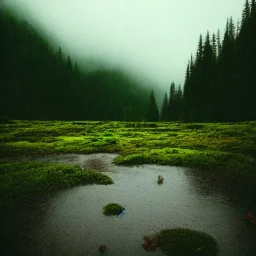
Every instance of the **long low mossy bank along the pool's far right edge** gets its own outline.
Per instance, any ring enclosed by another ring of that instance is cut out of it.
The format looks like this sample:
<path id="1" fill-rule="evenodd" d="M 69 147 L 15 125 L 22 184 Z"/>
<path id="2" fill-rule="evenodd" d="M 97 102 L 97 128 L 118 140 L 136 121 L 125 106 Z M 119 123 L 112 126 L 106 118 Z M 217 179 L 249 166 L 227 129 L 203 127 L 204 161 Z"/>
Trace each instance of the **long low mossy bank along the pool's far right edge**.
<path id="1" fill-rule="evenodd" d="M 200 168 L 205 171 L 225 171 L 238 175 L 249 174 L 254 159 L 242 154 L 213 150 L 191 150 L 181 148 L 152 149 L 126 156 L 118 156 L 114 162 L 123 165 L 161 164 Z M 256 177 L 255 177 L 256 178 Z"/>

